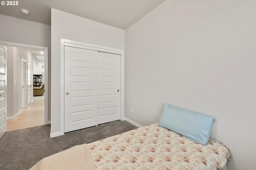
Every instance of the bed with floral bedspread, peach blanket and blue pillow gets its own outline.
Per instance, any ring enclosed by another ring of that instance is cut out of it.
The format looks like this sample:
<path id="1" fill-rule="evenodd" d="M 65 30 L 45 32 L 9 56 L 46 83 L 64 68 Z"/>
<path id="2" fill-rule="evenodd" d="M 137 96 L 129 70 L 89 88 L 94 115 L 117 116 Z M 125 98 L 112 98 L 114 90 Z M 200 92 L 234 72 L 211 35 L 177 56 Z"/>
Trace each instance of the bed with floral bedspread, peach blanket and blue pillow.
<path id="1" fill-rule="evenodd" d="M 31 170 L 226 170 L 232 155 L 209 139 L 213 122 L 212 116 L 164 104 L 159 123 L 77 145 Z"/>

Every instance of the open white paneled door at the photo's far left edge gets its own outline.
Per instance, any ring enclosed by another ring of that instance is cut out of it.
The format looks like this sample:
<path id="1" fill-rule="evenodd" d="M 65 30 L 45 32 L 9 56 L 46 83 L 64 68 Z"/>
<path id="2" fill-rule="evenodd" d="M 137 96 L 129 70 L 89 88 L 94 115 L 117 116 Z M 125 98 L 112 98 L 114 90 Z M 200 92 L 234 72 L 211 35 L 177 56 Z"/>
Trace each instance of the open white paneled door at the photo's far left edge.
<path id="1" fill-rule="evenodd" d="M 6 69 L 7 69 L 6 45 L 0 40 L 0 138 L 6 133 L 7 129 L 7 92 L 6 92 Z"/>

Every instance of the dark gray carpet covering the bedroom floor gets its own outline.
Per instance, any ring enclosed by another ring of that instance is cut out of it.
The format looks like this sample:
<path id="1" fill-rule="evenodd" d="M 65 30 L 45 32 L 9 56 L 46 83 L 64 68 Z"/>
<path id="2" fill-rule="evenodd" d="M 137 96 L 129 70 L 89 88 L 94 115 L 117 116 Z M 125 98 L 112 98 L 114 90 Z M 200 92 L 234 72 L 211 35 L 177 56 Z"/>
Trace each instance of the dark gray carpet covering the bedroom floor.
<path id="1" fill-rule="evenodd" d="M 54 138 L 50 138 L 50 125 L 8 131 L 0 139 L 0 170 L 28 170 L 46 156 L 136 128 L 126 121 L 113 121 Z"/>

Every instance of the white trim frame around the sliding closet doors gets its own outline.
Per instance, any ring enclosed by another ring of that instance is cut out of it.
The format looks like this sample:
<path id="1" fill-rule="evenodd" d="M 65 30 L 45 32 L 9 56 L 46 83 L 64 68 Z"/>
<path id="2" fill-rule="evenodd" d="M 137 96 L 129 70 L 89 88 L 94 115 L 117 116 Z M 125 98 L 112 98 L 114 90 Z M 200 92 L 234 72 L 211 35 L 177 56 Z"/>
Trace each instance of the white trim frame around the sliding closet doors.
<path id="1" fill-rule="evenodd" d="M 64 46 L 120 54 L 120 120 L 124 120 L 124 50 L 60 39 L 60 135 L 64 135 Z"/>

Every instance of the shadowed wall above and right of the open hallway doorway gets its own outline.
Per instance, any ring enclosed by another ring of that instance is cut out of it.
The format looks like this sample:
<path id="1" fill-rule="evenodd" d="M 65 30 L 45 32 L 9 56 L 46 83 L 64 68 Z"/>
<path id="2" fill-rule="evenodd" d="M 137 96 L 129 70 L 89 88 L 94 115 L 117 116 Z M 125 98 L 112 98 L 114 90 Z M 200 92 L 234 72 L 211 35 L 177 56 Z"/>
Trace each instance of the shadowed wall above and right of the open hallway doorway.
<path id="1" fill-rule="evenodd" d="M 51 69 L 51 26 L 0 14 L 0 39 L 13 43 L 48 47 L 48 83 Z M 8 56 L 8 54 L 7 54 Z M 33 62 L 32 62 L 33 63 Z M 31 63 L 31 64 L 32 64 Z M 8 74 L 8 73 L 7 73 Z M 50 121 L 50 86 L 48 88 L 48 120 Z"/>

